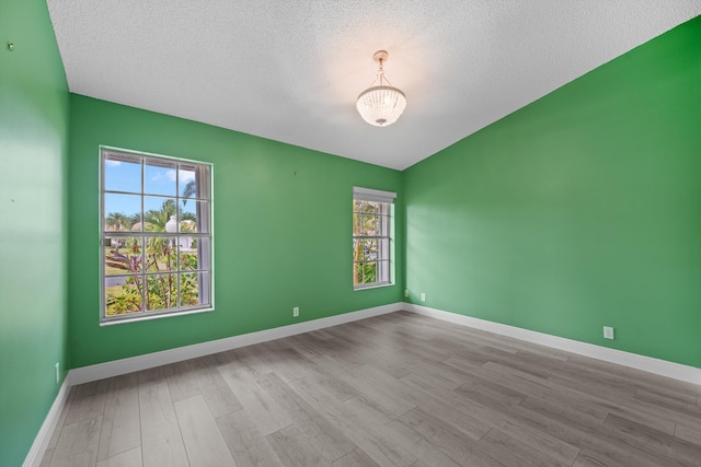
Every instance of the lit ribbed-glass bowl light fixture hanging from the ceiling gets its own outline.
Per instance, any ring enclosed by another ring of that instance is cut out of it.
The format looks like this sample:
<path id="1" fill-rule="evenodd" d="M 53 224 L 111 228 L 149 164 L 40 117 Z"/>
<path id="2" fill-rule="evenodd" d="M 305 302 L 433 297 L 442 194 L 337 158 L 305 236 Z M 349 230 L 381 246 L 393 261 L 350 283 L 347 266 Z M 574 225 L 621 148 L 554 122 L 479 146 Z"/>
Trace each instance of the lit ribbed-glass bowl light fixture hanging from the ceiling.
<path id="1" fill-rule="evenodd" d="M 370 87 L 363 91 L 358 96 L 356 107 L 365 121 L 376 127 L 387 127 L 392 125 L 406 108 L 406 96 L 397 87 L 393 87 L 384 77 L 382 63 L 387 61 L 389 54 L 386 50 L 378 50 L 372 55 L 372 60 L 380 63 L 377 72 L 378 78 L 370 83 Z M 379 79 L 378 86 L 374 86 Z M 386 85 L 384 83 L 387 82 Z"/>

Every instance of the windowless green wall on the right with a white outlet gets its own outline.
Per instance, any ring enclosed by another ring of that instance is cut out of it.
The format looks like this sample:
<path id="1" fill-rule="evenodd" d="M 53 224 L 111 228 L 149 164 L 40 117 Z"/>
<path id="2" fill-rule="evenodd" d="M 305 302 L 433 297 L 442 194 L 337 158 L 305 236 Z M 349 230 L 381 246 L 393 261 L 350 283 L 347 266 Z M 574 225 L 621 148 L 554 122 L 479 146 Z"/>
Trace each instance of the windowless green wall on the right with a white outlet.
<path id="1" fill-rule="evenodd" d="M 405 171 L 411 301 L 701 366 L 700 38 L 697 17 Z"/>

